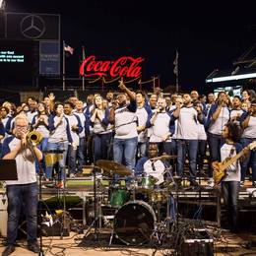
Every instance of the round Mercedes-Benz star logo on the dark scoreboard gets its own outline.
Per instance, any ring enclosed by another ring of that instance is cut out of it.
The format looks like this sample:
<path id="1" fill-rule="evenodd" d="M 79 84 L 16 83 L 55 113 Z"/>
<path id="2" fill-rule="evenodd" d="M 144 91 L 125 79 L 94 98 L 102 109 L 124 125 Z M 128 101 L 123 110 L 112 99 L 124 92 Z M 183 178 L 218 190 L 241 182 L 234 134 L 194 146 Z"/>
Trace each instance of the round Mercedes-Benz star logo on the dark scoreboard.
<path id="1" fill-rule="evenodd" d="M 37 15 L 26 16 L 21 22 L 21 32 L 27 38 L 36 39 L 45 32 L 45 23 Z"/>

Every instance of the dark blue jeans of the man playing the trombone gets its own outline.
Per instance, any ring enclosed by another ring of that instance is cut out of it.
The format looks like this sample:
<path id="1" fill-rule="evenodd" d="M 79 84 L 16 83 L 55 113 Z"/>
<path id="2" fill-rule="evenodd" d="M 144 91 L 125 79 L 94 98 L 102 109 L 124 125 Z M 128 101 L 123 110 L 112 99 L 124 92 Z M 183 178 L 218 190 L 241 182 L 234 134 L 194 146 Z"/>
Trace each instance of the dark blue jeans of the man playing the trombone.
<path id="1" fill-rule="evenodd" d="M 36 241 L 37 235 L 37 184 L 8 185 L 7 245 L 14 245 L 17 238 L 22 209 L 26 211 L 28 242 Z"/>

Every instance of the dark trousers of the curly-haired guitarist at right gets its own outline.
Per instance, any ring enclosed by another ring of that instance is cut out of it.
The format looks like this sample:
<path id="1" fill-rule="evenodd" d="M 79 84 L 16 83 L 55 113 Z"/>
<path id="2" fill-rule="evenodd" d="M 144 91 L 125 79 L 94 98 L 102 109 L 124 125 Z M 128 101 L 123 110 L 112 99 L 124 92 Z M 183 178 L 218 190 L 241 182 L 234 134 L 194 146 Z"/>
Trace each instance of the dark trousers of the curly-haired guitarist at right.
<path id="1" fill-rule="evenodd" d="M 239 181 L 223 181 L 224 204 L 227 206 L 228 222 L 231 228 L 237 228 Z"/>

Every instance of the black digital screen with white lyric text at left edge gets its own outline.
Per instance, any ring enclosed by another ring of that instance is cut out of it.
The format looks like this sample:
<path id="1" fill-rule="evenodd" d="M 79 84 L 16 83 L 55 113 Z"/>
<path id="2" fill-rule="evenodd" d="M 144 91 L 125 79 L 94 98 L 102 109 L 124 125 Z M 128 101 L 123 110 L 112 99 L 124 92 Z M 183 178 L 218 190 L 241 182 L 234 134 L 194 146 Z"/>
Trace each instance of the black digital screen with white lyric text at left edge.
<path id="1" fill-rule="evenodd" d="M 35 72 L 35 42 L 0 40 L 0 70 L 2 78 L 28 78 Z"/>

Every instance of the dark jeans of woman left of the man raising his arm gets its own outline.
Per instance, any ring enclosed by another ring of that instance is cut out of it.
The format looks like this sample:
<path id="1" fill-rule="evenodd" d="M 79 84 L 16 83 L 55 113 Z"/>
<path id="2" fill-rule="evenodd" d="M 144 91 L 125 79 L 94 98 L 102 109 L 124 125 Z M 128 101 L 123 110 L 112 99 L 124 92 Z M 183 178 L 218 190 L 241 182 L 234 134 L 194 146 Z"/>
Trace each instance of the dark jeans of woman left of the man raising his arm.
<path id="1" fill-rule="evenodd" d="M 94 134 L 94 161 L 96 160 L 110 160 L 112 133 Z"/>

